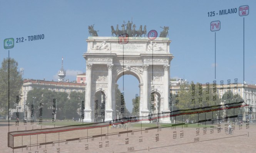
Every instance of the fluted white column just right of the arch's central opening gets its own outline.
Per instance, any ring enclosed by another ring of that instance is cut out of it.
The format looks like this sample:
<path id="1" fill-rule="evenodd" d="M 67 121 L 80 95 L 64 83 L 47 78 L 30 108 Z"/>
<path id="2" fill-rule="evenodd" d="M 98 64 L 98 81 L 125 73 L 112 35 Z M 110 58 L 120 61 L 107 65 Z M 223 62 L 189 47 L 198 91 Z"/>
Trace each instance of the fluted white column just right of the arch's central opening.
<path id="1" fill-rule="evenodd" d="M 149 109 L 147 107 L 147 69 L 148 69 L 149 65 L 143 64 L 142 68 L 143 68 L 143 104 L 142 104 L 142 109 L 141 109 L 141 114 L 142 114 L 142 119 L 149 119 L 148 115 L 149 115 Z M 143 117 L 143 116 L 147 116 L 147 117 Z M 149 122 L 149 121 L 145 121 L 145 122 Z"/>

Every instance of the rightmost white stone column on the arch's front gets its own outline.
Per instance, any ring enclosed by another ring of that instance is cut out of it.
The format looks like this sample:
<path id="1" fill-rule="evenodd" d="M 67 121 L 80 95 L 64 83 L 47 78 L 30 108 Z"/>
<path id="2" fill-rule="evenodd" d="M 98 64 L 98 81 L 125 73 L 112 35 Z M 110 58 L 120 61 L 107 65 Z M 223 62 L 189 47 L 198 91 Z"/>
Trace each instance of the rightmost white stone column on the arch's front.
<path id="1" fill-rule="evenodd" d="M 164 65 L 164 103 L 162 107 L 162 116 L 169 116 L 170 115 L 170 109 L 168 106 L 168 100 L 169 100 L 169 67 L 170 65 Z M 162 122 L 171 122 L 170 117 L 162 118 Z"/>

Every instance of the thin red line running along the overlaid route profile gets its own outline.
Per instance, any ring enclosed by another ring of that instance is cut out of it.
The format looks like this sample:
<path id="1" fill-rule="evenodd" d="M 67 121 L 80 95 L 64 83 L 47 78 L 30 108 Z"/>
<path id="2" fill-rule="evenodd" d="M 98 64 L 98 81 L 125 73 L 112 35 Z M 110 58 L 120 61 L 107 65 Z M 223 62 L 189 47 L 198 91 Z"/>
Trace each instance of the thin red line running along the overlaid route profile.
<path id="1" fill-rule="evenodd" d="M 139 121 L 150 121 L 150 120 L 160 119 L 160 118 L 165 118 L 165 117 L 180 116 L 180 115 L 184 115 L 184 114 L 197 114 L 197 113 L 202 113 L 202 112 L 212 112 L 212 111 L 219 111 L 219 110 L 223 110 L 223 109 L 231 109 L 231 108 L 238 108 L 238 107 L 245 107 L 245 106 L 249 106 L 249 105 L 246 104 L 246 105 L 241 105 L 241 106 L 232 106 L 232 107 L 226 107 L 226 108 L 210 109 L 210 110 L 206 110 L 206 111 L 184 112 L 184 113 L 175 114 L 175 115 L 154 117 L 152 119 L 129 120 L 129 121 L 125 121 L 125 122 L 122 122 L 122 123 L 139 122 Z M 116 124 L 121 124 L 121 123 L 116 123 Z M 72 131 L 72 130 L 93 129 L 93 128 L 97 128 L 97 127 L 107 127 L 107 126 L 109 126 L 109 124 L 107 124 L 107 125 L 99 125 L 99 126 L 94 126 L 94 127 L 80 127 L 80 128 L 66 129 L 66 130 L 57 130 L 57 131 L 15 134 L 15 135 L 13 135 L 13 137 L 22 136 L 22 135 L 36 135 L 36 134 L 66 132 L 66 131 Z"/>

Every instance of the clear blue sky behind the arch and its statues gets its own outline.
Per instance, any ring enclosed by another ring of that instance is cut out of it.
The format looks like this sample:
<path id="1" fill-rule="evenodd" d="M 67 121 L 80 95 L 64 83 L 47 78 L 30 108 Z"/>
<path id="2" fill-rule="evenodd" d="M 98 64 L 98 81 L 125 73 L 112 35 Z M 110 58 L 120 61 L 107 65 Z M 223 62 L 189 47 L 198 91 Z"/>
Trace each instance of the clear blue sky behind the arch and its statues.
<path id="1" fill-rule="evenodd" d="M 99 36 L 111 36 L 110 26 L 132 20 L 136 25 L 147 25 L 147 31 L 154 29 L 159 34 L 160 26 L 169 26 L 170 52 L 174 55 L 171 78 L 200 83 L 238 78 L 240 83 L 245 80 L 248 84 L 256 84 L 256 1 L 129 0 L 121 3 L 0 0 L 0 62 L 8 57 L 8 49 L 3 48 L 4 39 L 14 38 L 16 42 L 17 38 L 25 40 L 28 36 L 44 34 L 41 40 L 15 43 L 9 49 L 10 57 L 24 68 L 23 78 L 55 81 L 64 57 L 65 79 L 72 81 L 77 74 L 85 72 L 82 55 L 87 52 L 88 26 L 95 24 Z M 219 15 L 219 10 L 238 10 L 243 5 L 249 5 L 247 16 L 239 16 L 238 11 Z M 208 16 L 212 11 L 218 15 Z M 221 29 L 210 31 L 211 21 L 217 20 L 221 22 Z M 122 88 L 122 77 L 117 83 Z M 128 102 L 139 93 L 139 81 L 125 75 L 124 85 L 129 91 L 125 101 L 131 111 L 132 105 Z"/>

